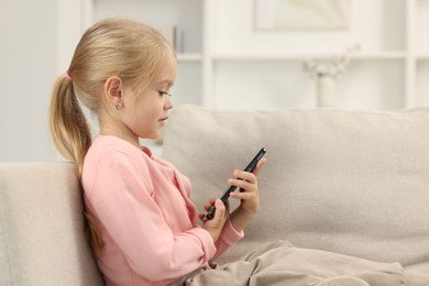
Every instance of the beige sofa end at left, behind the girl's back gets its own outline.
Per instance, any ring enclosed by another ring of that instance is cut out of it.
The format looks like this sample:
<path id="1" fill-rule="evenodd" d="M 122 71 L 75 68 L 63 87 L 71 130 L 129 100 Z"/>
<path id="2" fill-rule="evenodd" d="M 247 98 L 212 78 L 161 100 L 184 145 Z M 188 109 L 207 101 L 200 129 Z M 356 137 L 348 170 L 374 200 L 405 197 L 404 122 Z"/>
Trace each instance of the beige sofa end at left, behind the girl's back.
<path id="1" fill-rule="evenodd" d="M 73 164 L 0 164 L 0 285 L 103 285 Z"/>

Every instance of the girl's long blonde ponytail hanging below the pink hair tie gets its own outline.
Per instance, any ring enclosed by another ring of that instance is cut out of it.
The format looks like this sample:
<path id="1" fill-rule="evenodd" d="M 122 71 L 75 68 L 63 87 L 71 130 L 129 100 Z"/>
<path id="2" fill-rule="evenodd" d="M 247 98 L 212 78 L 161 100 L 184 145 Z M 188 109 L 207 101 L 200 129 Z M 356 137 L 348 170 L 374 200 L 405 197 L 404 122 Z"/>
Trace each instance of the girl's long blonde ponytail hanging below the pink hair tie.
<path id="1" fill-rule="evenodd" d="M 50 128 L 59 153 L 82 173 L 84 158 L 91 145 L 88 121 L 75 96 L 73 81 L 59 77 L 54 85 L 50 106 Z"/>

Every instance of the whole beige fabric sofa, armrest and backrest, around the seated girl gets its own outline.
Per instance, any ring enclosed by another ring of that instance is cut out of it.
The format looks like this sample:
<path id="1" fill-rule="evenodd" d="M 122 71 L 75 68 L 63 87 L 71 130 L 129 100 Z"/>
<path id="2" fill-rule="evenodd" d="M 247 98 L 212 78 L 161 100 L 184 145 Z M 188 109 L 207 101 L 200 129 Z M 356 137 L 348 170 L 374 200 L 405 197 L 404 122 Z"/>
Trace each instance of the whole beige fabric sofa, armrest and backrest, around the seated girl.
<path id="1" fill-rule="evenodd" d="M 222 261 L 274 240 L 429 273 L 429 109 L 211 111 L 176 107 L 163 156 L 201 207 L 268 150 L 261 210 Z M 102 285 L 76 168 L 0 164 L 0 285 Z"/>

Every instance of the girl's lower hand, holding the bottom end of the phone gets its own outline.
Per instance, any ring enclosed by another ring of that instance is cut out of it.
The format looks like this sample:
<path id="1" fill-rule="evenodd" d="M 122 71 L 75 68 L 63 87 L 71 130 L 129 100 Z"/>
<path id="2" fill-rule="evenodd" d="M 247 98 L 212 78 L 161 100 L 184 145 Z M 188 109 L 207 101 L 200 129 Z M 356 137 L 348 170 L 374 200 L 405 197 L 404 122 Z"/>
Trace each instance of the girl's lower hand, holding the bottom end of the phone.
<path id="1" fill-rule="evenodd" d="M 216 207 L 215 217 L 211 220 L 207 220 L 205 213 L 200 213 L 199 218 L 202 221 L 202 228 L 207 230 L 211 238 L 213 239 L 213 242 L 217 242 L 220 233 L 222 232 L 223 224 L 229 218 L 229 205 L 223 205 L 223 202 L 220 199 L 210 199 L 209 205 L 205 206 L 206 211 L 209 211 L 211 206 Z"/>

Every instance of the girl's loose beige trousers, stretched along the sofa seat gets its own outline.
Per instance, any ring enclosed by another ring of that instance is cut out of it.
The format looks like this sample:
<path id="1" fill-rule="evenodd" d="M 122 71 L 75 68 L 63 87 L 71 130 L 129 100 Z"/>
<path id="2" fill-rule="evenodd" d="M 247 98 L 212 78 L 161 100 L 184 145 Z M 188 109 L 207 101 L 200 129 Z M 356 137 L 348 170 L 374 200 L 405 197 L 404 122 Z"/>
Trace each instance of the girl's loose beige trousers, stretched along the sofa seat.
<path id="1" fill-rule="evenodd" d="M 429 274 L 405 275 L 399 263 L 380 263 L 332 252 L 299 249 L 288 241 L 273 242 L 242 260 L 218 265 L 215 270 L 198 270 L 173 285 L 316 286 L 344 276 L 359 278 L 371 286 L 429 285 Z"/>

